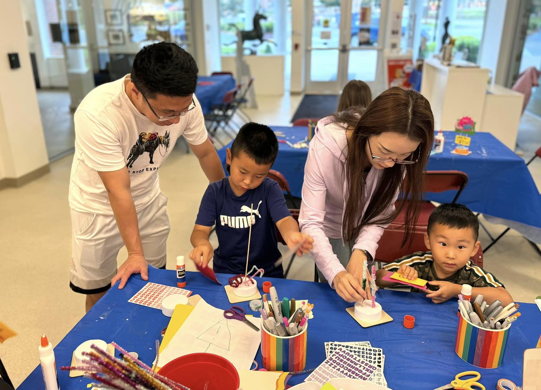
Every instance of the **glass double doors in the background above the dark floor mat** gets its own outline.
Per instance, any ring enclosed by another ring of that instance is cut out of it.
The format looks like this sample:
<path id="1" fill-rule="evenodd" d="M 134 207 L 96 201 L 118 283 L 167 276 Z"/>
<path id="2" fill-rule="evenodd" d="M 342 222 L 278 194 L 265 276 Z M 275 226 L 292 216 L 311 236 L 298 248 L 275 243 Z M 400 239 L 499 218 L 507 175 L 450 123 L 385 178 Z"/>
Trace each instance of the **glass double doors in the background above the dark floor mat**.
<path id="1" fill-rule="evenodd" d="M 383 79 L 388 0 L 311 0 L 307 7 L 306 91 L 339 93 L 358 79 Z"/>

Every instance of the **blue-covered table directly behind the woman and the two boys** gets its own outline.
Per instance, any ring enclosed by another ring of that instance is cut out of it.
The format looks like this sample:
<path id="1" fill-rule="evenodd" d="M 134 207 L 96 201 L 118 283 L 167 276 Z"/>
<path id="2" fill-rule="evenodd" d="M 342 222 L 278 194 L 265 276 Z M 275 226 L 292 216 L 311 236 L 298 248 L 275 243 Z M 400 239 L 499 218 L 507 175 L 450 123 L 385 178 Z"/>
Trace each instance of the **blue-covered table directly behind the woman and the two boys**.
<path id="1" fill-rule="evenodd" d="M 295 143 L 307 135 L 307 127 L 271 126 Z M 428 159 L 427 171 L 457 170 L 468 174 L 469 181 L 458 202 L 482 213 L 492 223 L 514 228 L 530 240 L 541 244 L 541 195 L 524 160 L 490 133 L 478 132 L 472 137 L 469 156 L 452 154 L 457 133 L 444 131 L 444 152 Z M 295 138 L 293 138 L 295 137 Z M 231 144 L 226 147 L 230 147 Z M 225 165 L 225 148 L 218 155 Z M 308 149 L 293 149 L 279 144 L 273 169 L 283 174 L 294 197 L 301 197 L 304 167 Z M 456 191 L 427 193 L 427 199 L 439 203 L 453 200 Z M 203 194 L 201 194 L 202 196 Z"/>

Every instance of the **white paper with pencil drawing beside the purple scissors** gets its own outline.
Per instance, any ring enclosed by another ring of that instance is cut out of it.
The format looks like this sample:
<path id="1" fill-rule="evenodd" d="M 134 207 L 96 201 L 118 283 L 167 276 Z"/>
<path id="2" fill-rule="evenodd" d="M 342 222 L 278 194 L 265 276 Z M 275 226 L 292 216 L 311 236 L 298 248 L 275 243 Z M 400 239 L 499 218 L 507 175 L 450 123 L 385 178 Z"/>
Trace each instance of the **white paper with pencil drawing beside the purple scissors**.
<path id="1" fill-rule="evenodd" d="M 259 318 L 246 319 L 259 327 Z M 208 352 L 226 358 L 236 369 L 250 369 L 260 342 L 260 332 L 242 321 L 226 319 L 223 310 L 201 300 L 163 349 L 160 366 L 189 353 Z"/>

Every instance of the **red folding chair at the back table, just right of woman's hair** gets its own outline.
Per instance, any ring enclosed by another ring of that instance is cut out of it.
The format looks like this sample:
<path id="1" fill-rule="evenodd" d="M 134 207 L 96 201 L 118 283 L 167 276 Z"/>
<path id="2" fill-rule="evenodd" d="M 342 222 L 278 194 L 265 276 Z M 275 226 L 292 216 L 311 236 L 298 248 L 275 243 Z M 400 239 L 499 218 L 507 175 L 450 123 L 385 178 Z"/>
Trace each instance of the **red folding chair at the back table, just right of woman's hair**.
<path id="1" fill-rule="evenodd" d="M 407 177 L 404 178 L 404 185 L 407 183 Z M 454 199 L 451 203 L 456 203 L 458 197 L 464 190 L 464 187 L 468 183 L 468 176 L 466 173 L 461 171 L 426 171 L 424 174 L 424 192 L 445 192 L 456 190 L 457 194 L 454 196 Z M 436 209 L 430 201 L 424 201 L 421 203 L 421 212 L 419 218 L 415 223 L 415 226 L 425 226 L 428 225 L 428 217 L 432 211 Z M 398 214 L 397 219 L 393 223 L 398 223 L 400 225 L 404 224 L 405 216 L 407 210 L 407 201 L 404 204 L 404 207 L 400 214 Z"/>

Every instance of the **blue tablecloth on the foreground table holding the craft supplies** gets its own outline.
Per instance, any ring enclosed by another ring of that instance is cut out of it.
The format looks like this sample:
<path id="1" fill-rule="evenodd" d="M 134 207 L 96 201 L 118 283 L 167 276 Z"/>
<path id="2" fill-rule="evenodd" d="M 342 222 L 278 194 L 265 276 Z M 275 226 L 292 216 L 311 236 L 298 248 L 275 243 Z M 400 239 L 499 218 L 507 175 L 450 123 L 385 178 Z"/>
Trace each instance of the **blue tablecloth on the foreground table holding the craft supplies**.
<path id="1" fill-rule="evenodd" d="M 230 275 L 217 274 L 227 284 Z M 308 299 L 314 306 L 314 318 L 309 321 L 306 368 L 315 368 L 325 360 L 325 341 L 364 341 L 383 348 L 384 373 L 388 385 L 394 390 L 436 388 L 449 383 L 459 372 L 470 366 L 454 352 L 458 325 L 457 303 L 450 300 L 433 304 L 424 294 L 380 291 L 378 302 L 394 318 L 393 322 L 370 328 L 361 328 L 345 309 L 352 306 L 343 301 L 326 283 L 262 278 L 271 280 L 279 297 Z M 176 285 L 174 271 L 150 268 L 149 281 Z M 227 309 L 231 306 L 223 286 L 206 279 L 198 272 L 187 272 L 187 288 L 200 294 L 209 304 Z M 169 318 L 160 310 L 128 303 L 147 282 L 140 275 L 130 278 L 123 290 L 116 285 L 78 322 L 55 347 L 56 366 L 70 365 L 72 352 L 88 339 L 103 339 L 139 354 L 147 364 L 154 359 L 155 340 Z M 249 312 L 248 302 L 240 304 Z M 487 389 L 496 388 L 500 378 L 522 384 L 523 352 L 535 348 L 541 334 L 541 313 L 536 305 L 521 304 L 522 316 L 512 325 L 503 364 L 494 369 L 478 369 L 480 382 Z M 415 327 L 406 329 L 402 323 L 405 314 L 415 317 Z M 47 332 L 47 330 L 44 330 Z M 255 358 L 261 366 L 261 352 Z M 413 364 L 412 364 L 413 362 Z M 477 368 L 476 368 L 477 369 Z M 293 376 L 288 384 L 299 384 L 305 375 Z M 91 381 L 83 377 L 69 378 L 68 372 L 58 371 L 63 390 L 86 389 Z M 43 389 L 41 368 L 38 366 L 19 389 Z"/>

